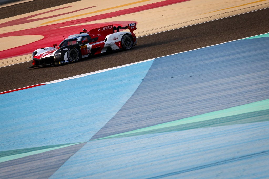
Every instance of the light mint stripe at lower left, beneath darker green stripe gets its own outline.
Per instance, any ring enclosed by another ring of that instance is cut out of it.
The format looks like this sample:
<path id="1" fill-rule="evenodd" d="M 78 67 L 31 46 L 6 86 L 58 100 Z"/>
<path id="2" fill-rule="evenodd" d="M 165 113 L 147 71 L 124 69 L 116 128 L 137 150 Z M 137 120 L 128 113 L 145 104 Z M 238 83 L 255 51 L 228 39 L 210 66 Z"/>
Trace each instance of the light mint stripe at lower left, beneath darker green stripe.
<path id="1" fill-rule="evenodd" d="M 82 143 L 82 142 L 80 142 L 80 143 Z M 36 151 L 31 151 L 31 152 L 26 152 L 26 153 L 20 153 L 20 154 L 15 154 L 15 155 L 4 156 L 4 157 L 0 158 L 0 163 L 6 162 L 6 161 L 9 161 L 9 160 L 14 160 L 14 159 L 26 157 L 26 156 L 30 156 L 30 155 L 40 154 L 40 153 L 43 153 L 43 152 L 52 151 L 52 150 L 55 150 L 55 149 L 64 148 L 64 147 L 68 147 L 68 146 L 76 145 L 76 144 L 80 144 L 80 143 L 61 145 L 61 146 L 58 146 L 58 147 L 52 147 L 52 148 L 46 148 L 46 149 L 41 149 L 41 150 L 36 150 Z"/>

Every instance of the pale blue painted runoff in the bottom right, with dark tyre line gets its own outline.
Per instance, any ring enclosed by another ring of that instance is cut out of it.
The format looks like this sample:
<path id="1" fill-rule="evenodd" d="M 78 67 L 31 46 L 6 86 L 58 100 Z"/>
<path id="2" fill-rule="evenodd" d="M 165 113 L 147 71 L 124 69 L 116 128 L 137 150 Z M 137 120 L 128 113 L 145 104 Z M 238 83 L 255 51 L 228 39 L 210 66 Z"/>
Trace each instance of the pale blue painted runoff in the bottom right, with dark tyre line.
<path id="1" fill-rule="evenodd" d="M 269 122 L 89 141 L 54 178 L 268 178 Z"/>

